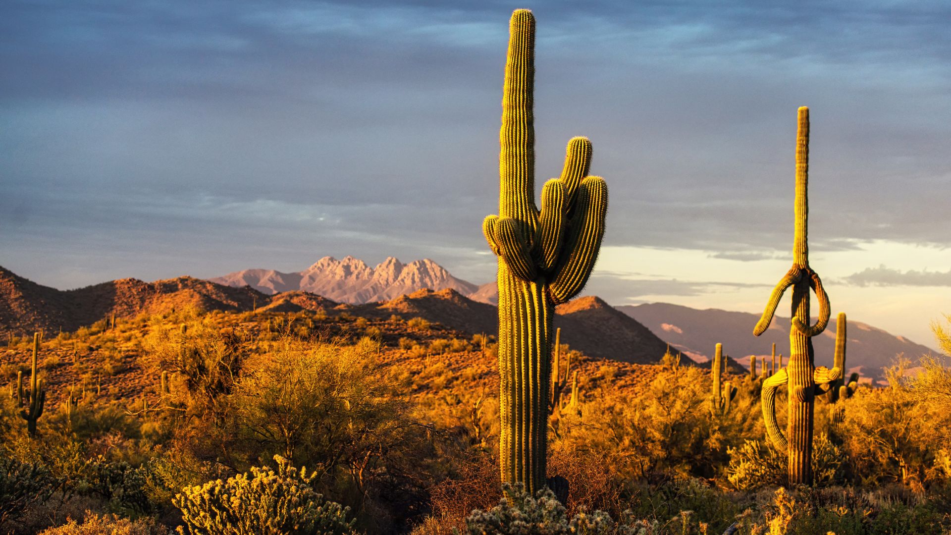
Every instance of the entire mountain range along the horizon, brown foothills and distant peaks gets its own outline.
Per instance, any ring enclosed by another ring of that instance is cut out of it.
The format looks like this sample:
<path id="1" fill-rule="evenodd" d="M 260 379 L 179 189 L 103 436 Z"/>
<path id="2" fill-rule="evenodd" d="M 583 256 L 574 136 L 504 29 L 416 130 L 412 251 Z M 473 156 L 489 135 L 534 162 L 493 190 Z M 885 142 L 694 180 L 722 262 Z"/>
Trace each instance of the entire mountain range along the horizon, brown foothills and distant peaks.
<path id="1" fill-rule="evenodd" d="M 179 277 L 146 283 L 120 279 L 59 290 L 37 285 L 0 268 L 0 335 L 41 328 L 75 330 L 106 318 L 161 313 L 176 307 L 205 310 L 296 311 L 324 309 L 378 317 L 398 314 L 469 333 L 495 333 L 495 283 L 475 285 L 454 277 L 432 260 L 402 264 L 388 258 L 376 268 L 347 256 L 321 258 L 303 271 L 245 269 L 210 280 Z M 752 336 L 756 314 L 715 308 L 699 310 L 665 303 L 611 307 L 583 297 L 557 308 L 555 326 L 563 342 L 592 357 L 646 364 L 667 348 L 705 362 L 716 343 L 748 366 L 749 355 L 765 356 L 776 343 L 788 358 L 788 318 L 777 317 L 763 336 Z M 848 324 L 847 365 L 881 377 L 882 368 L 903 353 L 916 359 L 930 349 L 878 327 Z M 817 365 L 830 365 L 835 322 L 814 338 Z"/>

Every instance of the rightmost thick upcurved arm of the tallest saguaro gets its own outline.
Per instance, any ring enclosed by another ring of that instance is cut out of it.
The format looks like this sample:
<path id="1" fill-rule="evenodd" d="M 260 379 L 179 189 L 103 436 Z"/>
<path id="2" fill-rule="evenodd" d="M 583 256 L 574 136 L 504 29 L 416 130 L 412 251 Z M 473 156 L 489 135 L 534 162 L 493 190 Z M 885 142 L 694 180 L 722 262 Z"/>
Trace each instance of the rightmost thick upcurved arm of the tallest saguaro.
<path id="1" fill-rule="evenodd" d="M 591 276 L 608 215 L 608 185 L 604 179 L 589 176 L 581 181 L 576 208 L 573 222 L 577 224 L 569 230 L 563 260 L 550 286 L 555 305 L 577 295 Z"/>

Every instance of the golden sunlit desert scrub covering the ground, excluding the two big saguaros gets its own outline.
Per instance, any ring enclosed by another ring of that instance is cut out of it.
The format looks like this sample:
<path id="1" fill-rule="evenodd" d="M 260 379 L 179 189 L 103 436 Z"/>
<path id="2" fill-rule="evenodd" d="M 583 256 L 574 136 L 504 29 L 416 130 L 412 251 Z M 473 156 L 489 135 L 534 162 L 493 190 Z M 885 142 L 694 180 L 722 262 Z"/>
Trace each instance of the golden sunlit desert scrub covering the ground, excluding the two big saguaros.
<path id="1" fill-rule="evenodd" d="M 438 326 L 366 321 L 382 341 L 355 330 L 356 317 L 196 310 L 37 340 L 46 406 L 33 436 L 23 416 L 33 340 L 14 341 L 0 530 L 425 534 L 531 519 L 534 533 L 951 528 L 943 356 L 897 360 L 885 387 L 817 397 L 807 487 L 786 485 L 786 451 L 765 440 L 762 374 L 672 353 L 628 365 L 562 345 L 544 407 L 549 473 L 570 489 L 561 502 L 501 490 L 495 342 L 483 351 Z M 946 327 L 936 332 L 946 339 Z M 427 355 L 400 347 L 407 338 L 467 345 Z M 776 391 L 778 405 L 786 395 Z"/>

